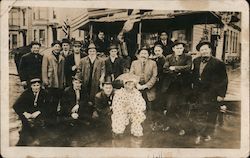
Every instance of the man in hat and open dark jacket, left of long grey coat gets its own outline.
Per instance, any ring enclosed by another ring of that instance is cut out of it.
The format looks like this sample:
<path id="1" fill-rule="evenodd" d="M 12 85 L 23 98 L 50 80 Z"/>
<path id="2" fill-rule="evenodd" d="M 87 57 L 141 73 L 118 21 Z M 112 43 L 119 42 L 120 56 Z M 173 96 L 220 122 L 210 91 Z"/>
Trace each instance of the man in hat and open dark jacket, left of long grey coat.
<path id="1" fill-rule="evenodd" d="M 66 87 L 72 84 L 72 76 L 75 76 L 76 72 L 79 71 L 80 60 L 87 56 L 81 53 L 81 42 L 74 41 L 73 43 L 73 53 L 65 58 L 64 73 L 66 78 Z"/>

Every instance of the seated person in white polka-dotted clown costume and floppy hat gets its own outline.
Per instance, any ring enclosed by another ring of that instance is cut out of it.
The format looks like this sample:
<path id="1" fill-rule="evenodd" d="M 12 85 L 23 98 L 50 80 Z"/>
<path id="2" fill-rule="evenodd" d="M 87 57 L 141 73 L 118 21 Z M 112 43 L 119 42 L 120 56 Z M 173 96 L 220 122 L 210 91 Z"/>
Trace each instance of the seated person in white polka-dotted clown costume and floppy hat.
<path id="1" fill-rule="evenodd" d="M 137 76 L 127 73 L 123 76 L 124 88 L 117 90 L 112 102 L 112 131 L 121 136 L 131 121 L 131 134 L 143 136 L 142 122 L 146 119 L 146 102 L 140 91 L 135 88 L 139 82 Z"/>

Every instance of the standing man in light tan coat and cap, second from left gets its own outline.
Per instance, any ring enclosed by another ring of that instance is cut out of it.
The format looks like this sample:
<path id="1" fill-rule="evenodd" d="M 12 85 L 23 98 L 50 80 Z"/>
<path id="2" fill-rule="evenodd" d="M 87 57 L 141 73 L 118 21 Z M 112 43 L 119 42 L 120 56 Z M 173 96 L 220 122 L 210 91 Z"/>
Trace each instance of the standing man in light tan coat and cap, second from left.
<path id="1" fill-rule="evenodd" d="M 44 54 L 42 62 L 42 79 L 45 88 L 52 96 L 51 117 L 57 113 L 58 103 L 65 86 L 64 57 L 61 52 L 61 42 L 54 41 L 51 44 L 53 50 Z"/>

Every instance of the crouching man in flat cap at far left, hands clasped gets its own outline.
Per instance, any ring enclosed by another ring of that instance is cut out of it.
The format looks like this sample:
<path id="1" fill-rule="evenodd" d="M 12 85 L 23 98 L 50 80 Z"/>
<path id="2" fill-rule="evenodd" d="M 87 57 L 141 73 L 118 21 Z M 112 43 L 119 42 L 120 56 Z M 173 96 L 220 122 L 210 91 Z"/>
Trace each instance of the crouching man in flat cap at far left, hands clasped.
<path id="1" fill-rule="evenodd" d="M 22 121 L 22 130 L 17 145 L 39 145 L 39 133 L 44 129 L 47 91 L 41 88 L 41 80 L 33 78 L 26 89 L 13 105 L 13 109 Z"/>

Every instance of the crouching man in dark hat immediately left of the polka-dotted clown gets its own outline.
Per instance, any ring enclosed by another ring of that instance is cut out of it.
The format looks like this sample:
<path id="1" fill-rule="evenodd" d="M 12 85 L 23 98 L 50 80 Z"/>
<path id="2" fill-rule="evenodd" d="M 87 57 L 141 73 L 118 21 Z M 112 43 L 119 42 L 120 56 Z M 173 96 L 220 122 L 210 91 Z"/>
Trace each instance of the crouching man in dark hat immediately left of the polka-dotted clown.
<path id="1" fill-rule="evenodd" d="M 102 83 L 102 91 L 95 96 L 95 112 L 93 117 L 98 118 L 102 129 L 111 129 L 111 105 L 114 96 L 113 85 L 111 78 Z"/>

